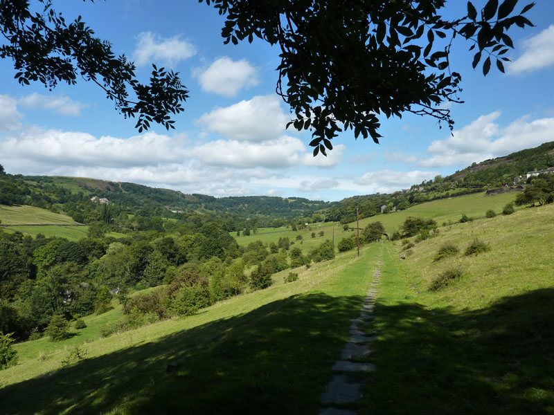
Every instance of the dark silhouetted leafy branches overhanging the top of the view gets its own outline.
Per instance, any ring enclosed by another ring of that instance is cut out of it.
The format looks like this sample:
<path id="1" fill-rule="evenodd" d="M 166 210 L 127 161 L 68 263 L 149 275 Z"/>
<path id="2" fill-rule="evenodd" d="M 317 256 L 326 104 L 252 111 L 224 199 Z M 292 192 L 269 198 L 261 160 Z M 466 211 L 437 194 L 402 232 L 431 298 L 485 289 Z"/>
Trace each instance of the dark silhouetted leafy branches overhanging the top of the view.
<path id="1" fill-rule="evenodd" d="M 21 84 L 75 84 L 77 75 L 96 82 L 124 116 L 138 116 L 139 131 L 150 122 L 173 127 L 170 113 L 183 110 L 188 91 L 177 73 L 154 66 L 150 84 L 134 77 L 134 65 L 115 57 L 108 42 L 93 37 L 79 17 L 71 24 L 53 10 L 31 13 L 26 0 L 0 0 L 0 57 L 15 62 Z M 224 43 L 254 37 L 280 47 L 277 93 L 296 117 L 289 124 L 310 129 L 314 156 L 326 155 L 343 129 L 355 138 L 379 140 L 379 116 L 410 112 L 437 118 L 452 129 L 444 102 L 461 102 L 461 75 L 449 55 L 455 37 L 475 50 L 473 67 L 487 75 L 492 63 L 504 71 L 513 25 L 533 26 L 515 14 L 517 0 L 488 0 L 481 12 L 467 2 L 457 19 L 439 15 L 445 0 L 199 0 L 226 16 Z M 129 99 L 129 93 L 136 99 Z"/>

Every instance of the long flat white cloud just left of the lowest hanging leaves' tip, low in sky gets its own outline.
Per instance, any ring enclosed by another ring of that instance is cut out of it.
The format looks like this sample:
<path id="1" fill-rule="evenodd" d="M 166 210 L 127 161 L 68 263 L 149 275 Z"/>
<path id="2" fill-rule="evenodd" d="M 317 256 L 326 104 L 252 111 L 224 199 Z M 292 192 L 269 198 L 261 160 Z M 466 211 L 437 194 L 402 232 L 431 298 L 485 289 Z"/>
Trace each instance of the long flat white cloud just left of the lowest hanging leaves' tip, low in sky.
<path id="1" fill-rule="evenodd" d="M 282 136 L 267 142 L 240 142 L 216 140 L 193 149 L 192 154 L 210 165 L 251 167 L 288 167 L 298 160 L 298 152 L 305 149 L 301 140 Z"/>

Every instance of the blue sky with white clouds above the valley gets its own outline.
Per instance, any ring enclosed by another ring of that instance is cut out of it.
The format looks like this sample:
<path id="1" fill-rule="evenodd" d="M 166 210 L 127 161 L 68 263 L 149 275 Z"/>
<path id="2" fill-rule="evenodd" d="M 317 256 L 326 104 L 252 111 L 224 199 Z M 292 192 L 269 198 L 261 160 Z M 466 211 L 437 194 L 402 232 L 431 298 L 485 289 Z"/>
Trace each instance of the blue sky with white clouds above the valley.
<path id="1" fill-rule="evenodd" d="M 481 8 L 485 1 L 473 2 Z M 521 10 L 526 2 L 518 4 Z M 470 44 L 451 58 L 464 104 L 454 104 L 454 136 L 436 120 L 406 114 L 382 119 L 380 145 L 334 139 L 328 158 L 312 157 L 310 133 L 285 130 L 289 109 L 274 93 L 278 50 L 264 42 L 224 45 L 224 19 L 205 3 L 128 0 L 55 1 L 66 19 L 82 15 L 146 80 L 152 62 L 173 68 L 190 90 L 176 130 L 139 134 L 97 86 L 80 80 L 49 92 L 22 87 L 0 61 L 0 164 L 12 174 L 87 176 L 213 196 L 267 194 L 340 200 L 393 192 L 454 173 L 473 162 L 554 140 L 554 1 L 538 0 L 513 27 L 506 74 L 483 77 Z M 465 1 L 447 12 L 461 16 Z"/>

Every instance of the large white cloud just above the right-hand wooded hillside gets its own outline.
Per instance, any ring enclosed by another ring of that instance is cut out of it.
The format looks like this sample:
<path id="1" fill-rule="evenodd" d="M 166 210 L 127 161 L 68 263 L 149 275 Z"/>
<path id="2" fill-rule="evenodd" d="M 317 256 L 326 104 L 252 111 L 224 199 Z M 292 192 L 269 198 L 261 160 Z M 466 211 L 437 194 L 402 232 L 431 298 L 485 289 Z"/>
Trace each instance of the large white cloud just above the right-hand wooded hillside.
<path id="1" fill-rule="evenodd" d="M 494 111 L 477 118 L 471 124 L 453 132 L 445 140 L 431 143 L 427 153 L 431 157 L 420 161 L 424 167 L 443 167 L 456 164 L 468 165 L 488 158 L 536 147 L 552 140 L 554 118 L 528 120 L 522 117 L 501 128 L 494 122 L 501 115 Z"/>

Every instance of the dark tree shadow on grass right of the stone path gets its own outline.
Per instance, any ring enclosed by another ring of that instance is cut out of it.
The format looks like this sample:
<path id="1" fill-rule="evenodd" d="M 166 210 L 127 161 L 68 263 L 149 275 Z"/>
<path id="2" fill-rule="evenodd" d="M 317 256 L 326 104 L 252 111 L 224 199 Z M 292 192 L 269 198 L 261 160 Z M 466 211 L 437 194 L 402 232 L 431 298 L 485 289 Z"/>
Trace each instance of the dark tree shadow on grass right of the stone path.
<path id="1" fill-rule="evenodd" d="M 554 414 L 554 289 L 479 311 L 380 305 L 364 414 Z"/>

